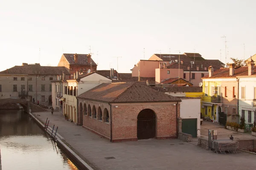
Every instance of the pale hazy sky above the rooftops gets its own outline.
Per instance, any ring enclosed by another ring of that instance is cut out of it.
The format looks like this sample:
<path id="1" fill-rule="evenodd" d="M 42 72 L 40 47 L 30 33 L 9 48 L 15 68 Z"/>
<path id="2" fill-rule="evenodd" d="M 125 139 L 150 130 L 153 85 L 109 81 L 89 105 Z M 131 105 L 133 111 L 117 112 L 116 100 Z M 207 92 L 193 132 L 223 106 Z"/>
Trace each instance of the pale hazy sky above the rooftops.
<path id="1" fill-rule="evenodd" d="M 157 53 L 247 59 L 256 54 L 255 6 L 255 0 L 0 0 L 0 71 L 23 62 L 57 66 L 63 53 L 92 53 L 98 70 L 117 69 L 119 57 L 119 73 Z"/>

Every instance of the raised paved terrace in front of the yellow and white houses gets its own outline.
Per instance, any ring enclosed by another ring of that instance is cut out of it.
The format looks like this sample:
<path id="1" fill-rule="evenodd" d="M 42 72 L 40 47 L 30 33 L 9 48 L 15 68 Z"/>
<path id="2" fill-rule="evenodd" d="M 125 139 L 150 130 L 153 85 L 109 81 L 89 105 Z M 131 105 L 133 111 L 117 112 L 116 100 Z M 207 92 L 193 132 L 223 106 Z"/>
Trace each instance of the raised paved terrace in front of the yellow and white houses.
<path id="1" fill-rule="evenodd" d="M 251 134 L 228 130 L 218 123 L 207 121 L 204 121 L 201 125 L 201 136 L 208 136 L 208 129 L 217 130 L 218 139 L 229 139 L 230 135 L 234 137 L 234 140 L 256 139 L 256 137 L 252 136 Z"/>

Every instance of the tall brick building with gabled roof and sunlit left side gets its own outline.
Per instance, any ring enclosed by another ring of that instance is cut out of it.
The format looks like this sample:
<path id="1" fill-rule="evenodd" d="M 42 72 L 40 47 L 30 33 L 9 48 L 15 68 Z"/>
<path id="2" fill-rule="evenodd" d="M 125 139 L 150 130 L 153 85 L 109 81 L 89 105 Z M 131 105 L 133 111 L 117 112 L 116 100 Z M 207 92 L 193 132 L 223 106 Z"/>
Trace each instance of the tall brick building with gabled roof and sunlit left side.
<path id="1" fill-rule="evenodd" d="M 62 54 L 58 66 L 64 66 L 70 74 L 87 73 L 97 70 L 97 64 L 93 61 L 90 54 Z"/>

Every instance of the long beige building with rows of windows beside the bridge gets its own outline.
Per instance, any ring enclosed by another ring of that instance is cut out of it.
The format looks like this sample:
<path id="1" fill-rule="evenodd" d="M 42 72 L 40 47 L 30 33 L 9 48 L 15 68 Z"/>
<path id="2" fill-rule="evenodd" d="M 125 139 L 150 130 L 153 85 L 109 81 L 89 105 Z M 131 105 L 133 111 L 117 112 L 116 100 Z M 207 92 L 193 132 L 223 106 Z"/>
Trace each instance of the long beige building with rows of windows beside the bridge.
<path id="1" fill-rule="evenodd" d="M 14 66 L 0 72 L 0 99 L 29 99 L 41 105 L 52 105 L 52 80 L 69 74 L 64 67 L 41 66 L 38 63 Z"/>

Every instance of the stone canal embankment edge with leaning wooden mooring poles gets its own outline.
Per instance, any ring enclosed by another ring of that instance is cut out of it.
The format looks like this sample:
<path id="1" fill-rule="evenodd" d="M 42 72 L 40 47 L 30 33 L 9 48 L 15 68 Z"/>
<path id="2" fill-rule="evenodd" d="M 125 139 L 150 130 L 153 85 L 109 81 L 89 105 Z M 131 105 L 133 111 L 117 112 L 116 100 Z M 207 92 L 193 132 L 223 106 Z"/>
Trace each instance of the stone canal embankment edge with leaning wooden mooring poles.
<path id="1" fill-rule="evenodd" d="M 40 113 L 39 113 L 40 114 Z M 38 115 L 36 113 L 29 113 L 29 116 L 35 120 L 35 122 L 41 127 L 41 129 L 45 130 L 45 124 L 41 119 L 38 119 Z M 48 123 L 48 122 L 47 122 Z M 64 152 L 74 161 L 76 164 L 79 165 L 80 169 L 82 170 L 93 170 L 89 164 L 87 164 L 80 156 L 76 154 L 76 151 L 73 151 L 69 146 L 67 146 L 67 142 L 65 142 L 64 138 L 56 132 L 56 128 L 58 125 L 55 125 L 55 129 L 52 129 L 51 126 L 47 127 L 47 134 L 52 137 L 52 139 L 58 144 Z M 55 138 L 54 138 L 55 137 Z"/>

